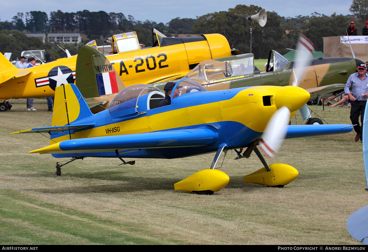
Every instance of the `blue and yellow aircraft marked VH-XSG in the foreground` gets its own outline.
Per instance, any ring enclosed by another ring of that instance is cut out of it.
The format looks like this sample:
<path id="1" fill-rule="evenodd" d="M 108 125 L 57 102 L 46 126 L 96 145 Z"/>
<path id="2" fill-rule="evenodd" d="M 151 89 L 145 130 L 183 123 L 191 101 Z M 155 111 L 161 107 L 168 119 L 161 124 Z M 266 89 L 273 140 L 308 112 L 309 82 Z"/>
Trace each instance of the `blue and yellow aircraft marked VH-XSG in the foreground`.
<path id="1" fill-rule="evenodd" d="M 286 164 L 268 165 L 261 151 L 272 157 L 283 137 L 322 136 L 353 129 L 350 125 L 285 127 L 309 99 L 309 93 L 300 87 L 207 91 L 185 78 L 175 84 L 176 89 L 181 95 L 174 98 L 176 92 L 172 92 L 171 105 L 158 107 L 165 94 L 157 87 L 128 86 L 116 95 L 109 109 L 92 114 L 77 86 L 66 84 L 56 88 L 51 127 L 14 133 L 49 133 L 50 145 L 29 153 L 71 158 L 66 163 L 103 157 L 134 164 L 123 158 L 172 159 L 215 153 L 209 169 L 174 185 L 175 190 L 212 194 L 229 182 L 227 174 L 215 169 L 222 152 L 235 150 L 236 159 L 240 159 L 254 151 L 264 167 L 244 176 L 244 182 L 283 187 L 296 179 L 298 171 Z M 57 175 L 66 163 L 57 163 Z"/>

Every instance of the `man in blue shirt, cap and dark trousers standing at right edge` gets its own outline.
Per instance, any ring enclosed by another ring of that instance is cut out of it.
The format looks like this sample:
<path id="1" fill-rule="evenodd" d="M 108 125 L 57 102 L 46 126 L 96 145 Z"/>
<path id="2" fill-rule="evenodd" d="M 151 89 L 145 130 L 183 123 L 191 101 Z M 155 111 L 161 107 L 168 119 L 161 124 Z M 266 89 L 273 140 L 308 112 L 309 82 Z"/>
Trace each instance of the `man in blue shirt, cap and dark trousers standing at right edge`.
<path id="1" fill-rule="evenodd" d="M 349 76 L 344 88 L 344 92 L 351 102 L 351 123 L 357 125 L 354 126 L 354 130 L 357 133 L 355 136 L 356 142 L 359 141 L 359 139 L 362 141 L 361 126 L 363 126 L 365 104 L 368 98 L 368 74 L 365 72 L 367 66 L 365 64 L 360 64 L 357 70 L 357 73 L 353 73 Z M 359 125 L 359 115 L 361 125 Z"/>

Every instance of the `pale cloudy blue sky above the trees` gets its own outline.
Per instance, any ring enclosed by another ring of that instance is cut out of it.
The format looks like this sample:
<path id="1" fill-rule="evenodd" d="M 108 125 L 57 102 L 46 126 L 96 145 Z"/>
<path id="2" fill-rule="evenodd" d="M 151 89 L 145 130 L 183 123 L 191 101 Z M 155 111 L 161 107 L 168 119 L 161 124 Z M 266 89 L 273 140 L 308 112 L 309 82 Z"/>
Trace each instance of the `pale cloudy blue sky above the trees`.
<path id="1" fill-rule="evenodd" d="M 17 12 L 45 11 L 47 15 L 51 11 L 61 10 L 63 12 L 77 12 L 82 10 L 122 12 L 126 17 L 132 15 L 135 20 L 163 22 L 166 24 L 171 19 L 196 18 L 207 13 L 227 11 L 237 4 L 247 6 L 254 4 L 264 8 L 266 11 L 275 11 L 282 17 L 296 17 L 298 15 L 311 15 L 313 12 L 331 15 L 351 14 L 349 11 L 352 0 L 335 0 L 323 2 L 320 0 L 309 1 L 248 1 L 248 0 L 176 0 L 167 3 L 159 3 L 152 0 L 0 0 L 0 21 L 12 21 Z"/>

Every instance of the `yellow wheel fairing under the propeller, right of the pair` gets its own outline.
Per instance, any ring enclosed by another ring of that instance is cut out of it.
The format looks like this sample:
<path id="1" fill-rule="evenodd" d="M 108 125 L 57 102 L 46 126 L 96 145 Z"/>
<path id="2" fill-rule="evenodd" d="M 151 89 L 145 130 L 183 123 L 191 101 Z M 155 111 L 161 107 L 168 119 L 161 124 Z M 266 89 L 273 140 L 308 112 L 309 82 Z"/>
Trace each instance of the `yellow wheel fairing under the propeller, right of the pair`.
<path id="1" fill-rule="evenodd" d="M 294 181 L 299 175 L 297 169 L 284 163 L 274 163 L 269 167 L 270 172 L 267 172 L 266 168 L 263 167 L 244 176 L 244 182 L 265 186 L 284 186 Z"/>

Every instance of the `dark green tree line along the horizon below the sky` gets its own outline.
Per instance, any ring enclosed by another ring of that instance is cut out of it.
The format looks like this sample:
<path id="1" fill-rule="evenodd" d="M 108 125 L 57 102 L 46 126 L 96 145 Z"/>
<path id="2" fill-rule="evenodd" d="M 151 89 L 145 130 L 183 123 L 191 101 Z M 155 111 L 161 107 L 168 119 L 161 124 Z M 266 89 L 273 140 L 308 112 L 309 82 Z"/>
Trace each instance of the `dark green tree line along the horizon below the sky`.
<path id="1" fill-rule="evenodd" d="M 0 51 L 13 52 L 18 55 L 22 50 L 47 48 L 53 50 L 51 53 L 52 55 L 54 53 L 54 58 L 63 54 L 61 49 L 55 48 L 54 45 L 45 45 L 46 43 L 42 44 L 42 42 L 39 44 L 36 38 L 22 37 L 22 32 L 83 33 L 86 39 L 81 44 L 63 46 L 70 47 L 68 50 L 75 53 L 89 40 L 95 39 L 100 45 L 103 43 L 103 38 L 132 30 L 137 32 L 139 43 L 151 46 L 152 28 L 156 28 L 166 36 L 220 33 L 227 38 L 231 48 L 249 53 L 252 26 L 252 53 L 255 58 L 267 58 L 271 49 L 281 54 L 289 51 L 286 48 L 294 49 L 300 33 L 312 40 L 317 51 L 323 51 L 323 37 L 346 35 L 351 21 L 355 22 L 358 35 L 362 35 L 361 30 L 365 26 L 365 21 L 368 20 L 368 0 L 353 0 L 349 9 L 351 15 L 334 13 L 327 16 L 314 12 L 309 16 L 299 15 L 285 18 L 280 17 L 274 11 L 267 11 L 268 20 L 264 27 L 252 24 L 247 19 L 248 16 L 256 14 L 261 9 L 261 6 L 239 4 L 234 8 L 229 8 L 228 11 L 209 13 L 196 19 L 177 17 L 171 19 L 167 24 L 162 22 L 157 24 L 149 20 L 136 21 L 131 15 L 126 17 L 121 12 L 84 10 L 68 13 L 57 10 L 50 12 L 49 16 L 41 11 L 30 11 L 25 14 L 18 12 L 13 17 L 13 21 L 0 22 Z M 10 33 L 13 39 L 9 36 Z M 15 37 L 17 37 L 17 43 L 14 41 Z M 19 39 L 27 40 L 27 42 L 19 41 Z"/>

